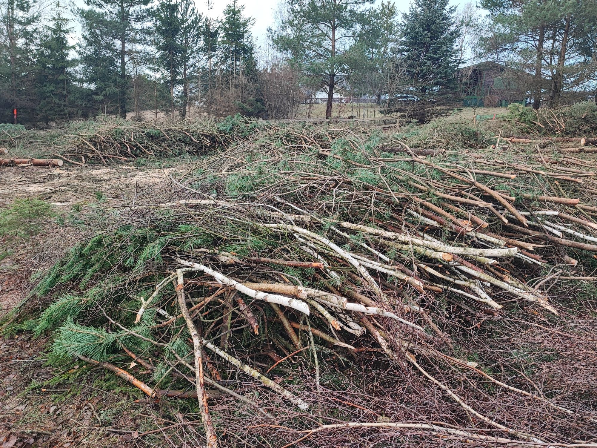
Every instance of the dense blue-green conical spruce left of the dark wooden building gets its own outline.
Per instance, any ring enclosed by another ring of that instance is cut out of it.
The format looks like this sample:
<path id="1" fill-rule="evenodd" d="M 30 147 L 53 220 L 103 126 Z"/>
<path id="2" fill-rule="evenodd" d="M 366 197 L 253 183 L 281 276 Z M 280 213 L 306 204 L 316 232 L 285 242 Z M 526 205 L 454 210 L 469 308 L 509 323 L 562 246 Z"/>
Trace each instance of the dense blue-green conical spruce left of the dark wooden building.
<path id="1" fill-rule="evenodd" d="M 449 0 L 415 0 L 404 15 L 400 51 L 404 84 L 390 100 L 423 123 L 451 105 L 458 68 L 459 30 Z"/>

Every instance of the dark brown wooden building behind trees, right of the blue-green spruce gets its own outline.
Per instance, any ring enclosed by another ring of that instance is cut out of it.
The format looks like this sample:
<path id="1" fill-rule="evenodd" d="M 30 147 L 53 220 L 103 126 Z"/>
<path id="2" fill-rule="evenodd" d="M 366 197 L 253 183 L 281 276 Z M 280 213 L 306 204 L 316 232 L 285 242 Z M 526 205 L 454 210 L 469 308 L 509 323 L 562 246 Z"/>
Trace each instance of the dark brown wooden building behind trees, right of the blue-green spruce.
<path id="1" fill-rule="evenodd" d="M 456 72 L 464 106 L 505 107 L 528 105 L 534 78 L 527 72 L 492 61 L 463 67 Z"/>

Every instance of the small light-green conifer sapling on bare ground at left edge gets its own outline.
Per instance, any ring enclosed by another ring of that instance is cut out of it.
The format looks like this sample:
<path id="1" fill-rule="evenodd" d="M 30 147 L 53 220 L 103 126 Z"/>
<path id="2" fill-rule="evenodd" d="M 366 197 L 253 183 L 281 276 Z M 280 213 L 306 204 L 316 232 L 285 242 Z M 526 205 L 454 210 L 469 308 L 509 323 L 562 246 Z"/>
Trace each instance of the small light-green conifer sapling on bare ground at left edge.
<path id="1" fill-rule="evenodd" d="M 52 215 L 52 206 L 36 198 L 16 199 L 0 211 L 0 236 L 33 238 L 42 231 L 45 219 Z"/>

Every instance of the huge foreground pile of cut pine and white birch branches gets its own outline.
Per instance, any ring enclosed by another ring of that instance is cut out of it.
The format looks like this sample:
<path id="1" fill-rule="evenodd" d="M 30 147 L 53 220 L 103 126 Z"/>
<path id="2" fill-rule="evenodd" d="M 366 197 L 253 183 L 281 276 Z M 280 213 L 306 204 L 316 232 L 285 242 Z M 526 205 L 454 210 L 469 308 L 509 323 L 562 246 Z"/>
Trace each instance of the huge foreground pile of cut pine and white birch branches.
<path id="1" fill-rule="evenodd" d="M 208 446 L 595 446 L 596 161 L 496 146 L 269 125 L 83 208 L 11 325 L 195 397 Z"/>

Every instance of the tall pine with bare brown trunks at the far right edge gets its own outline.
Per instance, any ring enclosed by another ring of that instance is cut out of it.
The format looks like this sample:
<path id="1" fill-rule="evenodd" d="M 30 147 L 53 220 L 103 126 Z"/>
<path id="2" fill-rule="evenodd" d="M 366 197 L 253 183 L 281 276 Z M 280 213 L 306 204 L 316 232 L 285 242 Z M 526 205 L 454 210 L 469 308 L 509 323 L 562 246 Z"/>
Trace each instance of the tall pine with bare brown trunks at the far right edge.
<path id="1" fill-rule="evenodd" d="M 546 91 L 558 106 L 566 91 L 588 90 L 597 73 L 597 2 L 584 0 L 482 0 L 493 35 L 488 54 L 534 75 L 533 108 Z M 547 82 L 546 82 L 547 81 Z"/>

